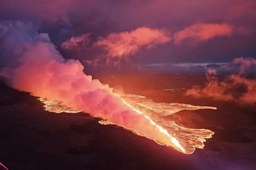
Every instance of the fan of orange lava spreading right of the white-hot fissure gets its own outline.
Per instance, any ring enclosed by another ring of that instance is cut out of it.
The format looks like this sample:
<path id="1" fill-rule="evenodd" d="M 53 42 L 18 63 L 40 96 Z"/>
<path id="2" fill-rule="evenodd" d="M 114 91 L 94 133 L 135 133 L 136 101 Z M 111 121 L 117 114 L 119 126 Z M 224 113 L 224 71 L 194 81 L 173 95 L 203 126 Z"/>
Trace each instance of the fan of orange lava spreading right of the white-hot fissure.
<path id="1" fill-rule="evenodd" d="M 217 109 L 216 107 L 193 106 L 180 103 L 127 102 L 149 116 L 157 125 L 164 127 L 172 137 L 179 141 L 187 154 L 192 154 L 195 148 L 204 148 L 205 138 L 211 138 L 214 134 L 214 132 L 208 129 L 192 129 L 178 126 L 175 122 L 180 120 L 176 120 L 168 115 L 174 114 L 180 110 Z"/>

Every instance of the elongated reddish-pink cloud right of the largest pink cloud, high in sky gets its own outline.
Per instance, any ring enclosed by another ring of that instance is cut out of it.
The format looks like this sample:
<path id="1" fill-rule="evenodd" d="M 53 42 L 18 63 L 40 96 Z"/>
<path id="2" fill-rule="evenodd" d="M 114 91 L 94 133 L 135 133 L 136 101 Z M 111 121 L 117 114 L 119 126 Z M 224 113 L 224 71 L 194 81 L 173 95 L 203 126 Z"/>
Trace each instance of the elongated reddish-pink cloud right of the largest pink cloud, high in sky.
<path id="1" fill-rule="evenodd" d="M 230 35 L 231 32 L 232 26 L 229 24 L 198 23 L 176 32 L 174 34 L 174 43 L 180 43 L 187 38 L 195 38 L 199 41 L 206 41 L 216 36 Z"/>

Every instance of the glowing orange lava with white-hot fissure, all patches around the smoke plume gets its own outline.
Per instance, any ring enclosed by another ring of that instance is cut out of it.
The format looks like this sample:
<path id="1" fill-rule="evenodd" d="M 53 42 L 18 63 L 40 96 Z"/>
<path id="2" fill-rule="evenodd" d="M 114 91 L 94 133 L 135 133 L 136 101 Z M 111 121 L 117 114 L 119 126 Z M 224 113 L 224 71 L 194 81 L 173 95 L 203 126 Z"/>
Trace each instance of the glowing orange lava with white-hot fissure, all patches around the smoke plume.
<path id="1" fill-rule="evenodd" d="M 192 106 L 189 104 L 180 104 L 180 103 L 138 103 L 135 101 L 131 101 L 126 99 L 125 97 L 136 97 L 136 98 L 145 98 L 139 95 L 121 95 L 123 98 L 123 102 L 129 106 L 131 109 L 136 111 L 138 114 L 143 115 L 146 119 L 150 120 L 151 124 L 155 125 L 160 132 L 164 133 L 165 135 L 170 138 L 172 145 L 174 148 L 180 152 L 185 154 L 192 154 L 195 151 L 195 148 L 204 148 L 205 138 L 211 138 L 214 132 L 208 129 L 192 129 L 192 128 L 185 128 L 182 126 L 178 126 L 175 122 L 174 118 L 169 118 L 168 115 L 174 114 L 180 110 L 197 110 L 197 109 L 216 109 L 215 107 L 207 107 L 207 106 Z M 81 112 L 82 110 L 78 110 L 69 106 L 65 106 L 62 102 L 59 101 L 48 101 L 46 98 L 40 98 L 40 101 L 45 103 L 44 105 L 45 110 L 55 113 L 67 112 L 67 113 L 77 113 Z M 103 125 L 108 124 L 115 124 L 118 126 L 117 123 L 114 123 L 110 120 L 100 120 L 99 123 Z M 125 129 L 132 130 L 129 127 L 122 126 Z M 147 137 L 145 135 L 136 134 L 140 136 Z M 149 137 L 147 137 L 149 138 Z M 154 138 L 153 139 L 157 144 L 167 145 L 170 144 L 162 143 Z"/>

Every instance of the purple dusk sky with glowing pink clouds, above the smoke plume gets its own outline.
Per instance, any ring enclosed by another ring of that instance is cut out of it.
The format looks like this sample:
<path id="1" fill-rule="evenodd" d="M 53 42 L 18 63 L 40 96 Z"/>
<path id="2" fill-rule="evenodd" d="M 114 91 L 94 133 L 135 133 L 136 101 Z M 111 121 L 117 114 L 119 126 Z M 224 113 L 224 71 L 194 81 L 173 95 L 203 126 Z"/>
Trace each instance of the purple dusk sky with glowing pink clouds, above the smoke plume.
<path id="1" fill-rule="evenodd" d="M 38 33 L 49 34 L 64 58 L 84 65 L 256 58 L 255 0 L 0 0 L 0 4 L 0 20 L 31 22 Z"/>

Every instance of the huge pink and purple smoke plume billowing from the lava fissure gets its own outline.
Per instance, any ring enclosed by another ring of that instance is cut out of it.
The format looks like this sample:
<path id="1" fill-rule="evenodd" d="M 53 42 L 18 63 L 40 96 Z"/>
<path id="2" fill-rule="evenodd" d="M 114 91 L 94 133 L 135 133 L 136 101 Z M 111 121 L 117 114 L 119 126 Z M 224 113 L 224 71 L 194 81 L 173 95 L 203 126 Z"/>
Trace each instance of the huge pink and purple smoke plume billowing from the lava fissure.
<path id="1" fill-rule="evenodd" d="M 5 21 L 0 28 L 1 60 L 5 61 L 0 75 L 8 85 L 36 97 L 58 100 L 174 146 L 172 141 L 176 139 L 166 130 L 126 104 L 108 85 L 86 75 L 79 61 L 65 60 L 48 34 L 37 33 L 32 23 Z"/>

